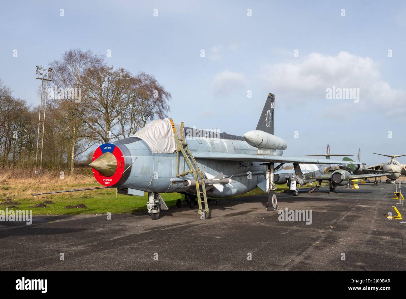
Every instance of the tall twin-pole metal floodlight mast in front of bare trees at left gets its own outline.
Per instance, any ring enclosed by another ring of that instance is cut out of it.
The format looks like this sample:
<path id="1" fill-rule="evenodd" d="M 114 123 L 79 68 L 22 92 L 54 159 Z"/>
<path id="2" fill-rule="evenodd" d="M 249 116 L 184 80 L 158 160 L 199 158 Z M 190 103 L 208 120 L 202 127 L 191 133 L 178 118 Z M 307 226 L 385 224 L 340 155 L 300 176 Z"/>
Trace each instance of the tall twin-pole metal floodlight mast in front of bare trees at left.
<path id="1" fill-rule="evenodd" d="M 41 80 L 41 98 L 39 99 L 39 117 L 38 117 L 38 133 L 37 133 L 37 154 L 35 156 L 35 174 L 41 173 L 42 168 L 42 148 L 44 145 L 44 131 L 45 131 L 45 110 L 47 104 L 47 89 L 48 81 L 52 81 L 52 68 L 44 69 L 43 65 L 41 67 L 37 65 L 37 70 L 35 72 L 35 79 Z M 45 81 L 45 98 L 42 99 L 43 85 Z M 40 142 L 41 138 L 41 142 Z M 40 159 L 38 162 L 38 154 Z M 37 170 L 38 168 L 38 170 Z"/>

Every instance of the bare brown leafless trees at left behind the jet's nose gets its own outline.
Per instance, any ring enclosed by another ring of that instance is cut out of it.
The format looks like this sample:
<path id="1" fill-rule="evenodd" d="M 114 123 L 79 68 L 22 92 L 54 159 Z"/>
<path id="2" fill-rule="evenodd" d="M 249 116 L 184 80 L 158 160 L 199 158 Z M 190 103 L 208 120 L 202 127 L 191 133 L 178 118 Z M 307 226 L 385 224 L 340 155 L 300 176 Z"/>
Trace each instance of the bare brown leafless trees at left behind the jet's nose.
<path id="1" fill-rule="evenodd" d="M 95 144 L 130 137 L 170 111 L 171 94 L 154 76 L 115 68 L 91 50 L 66 51 L 49 67 L 43 168 L 74 172 Z M 0 101 L 0 167 L 34 168 L 39 105 L 15 98 L 1 80 Z"/>

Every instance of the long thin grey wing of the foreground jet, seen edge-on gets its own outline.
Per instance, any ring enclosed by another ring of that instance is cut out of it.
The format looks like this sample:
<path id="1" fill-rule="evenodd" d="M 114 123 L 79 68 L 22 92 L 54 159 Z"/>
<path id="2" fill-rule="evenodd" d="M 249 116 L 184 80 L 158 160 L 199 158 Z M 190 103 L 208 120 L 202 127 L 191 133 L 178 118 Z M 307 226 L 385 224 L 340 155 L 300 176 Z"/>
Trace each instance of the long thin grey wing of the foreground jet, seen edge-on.
<path id="1" fill-rule="evenodd" d="M 307 157 L 289 157 L 276 155 L 252 155 L 237 153 L 218 152 L 195 152 L 196 159 L 224 160 L 224 161 L 251 161 L 251 162 L 279 162 L 279 163 L 303 163 L 303 164 L 362 164 L 358 161 L 343 161 L 330 159 L 316 159 Z"/>

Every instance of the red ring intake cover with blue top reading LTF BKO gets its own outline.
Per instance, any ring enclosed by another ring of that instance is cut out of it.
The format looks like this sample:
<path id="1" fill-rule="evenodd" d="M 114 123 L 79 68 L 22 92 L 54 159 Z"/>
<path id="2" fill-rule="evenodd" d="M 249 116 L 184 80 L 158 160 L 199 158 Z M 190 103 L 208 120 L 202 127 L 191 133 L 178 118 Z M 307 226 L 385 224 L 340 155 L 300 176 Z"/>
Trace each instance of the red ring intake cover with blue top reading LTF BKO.
<path id="1" fill-rule="evenodd" d="M 93 175 L 95 176 L 95 179 L 102 184 L 103 186 L 113 186 L 114 184 L 116 184 L 121 177 L 123 176 L 123 172 L 124 172 L 124 157 L 123 157 L 123 153 L 121 153 L 120 149 L 115 146 L 114 144 L 111 143 L 106 143 L 106 144 L 102 144 L 101 146 L 99 146 L 95 153 L 93 154 L 93 158 L 92 158 L 92 162 L 97 159 L 98 157 L 100 157 L 103 152 L 106 152 L 106 150 L 102 150 L 102 148 L 106 147 L 106 146 L 110 146 L 110 150 L 108 150 L 108 152 L 112 153 L 114 155 L 114 157 L 116 157 L 117 160 L 117 169 L 116 172 L 114 172 L 114 175 L 112 175 L 111 177 L 105 177 L 104 175 L 101 175 L 97 170 L 95 170 L 94 168 L 92 168 L 93 171 Z M 112 150 L 112 151 L 111 151 Z"/>

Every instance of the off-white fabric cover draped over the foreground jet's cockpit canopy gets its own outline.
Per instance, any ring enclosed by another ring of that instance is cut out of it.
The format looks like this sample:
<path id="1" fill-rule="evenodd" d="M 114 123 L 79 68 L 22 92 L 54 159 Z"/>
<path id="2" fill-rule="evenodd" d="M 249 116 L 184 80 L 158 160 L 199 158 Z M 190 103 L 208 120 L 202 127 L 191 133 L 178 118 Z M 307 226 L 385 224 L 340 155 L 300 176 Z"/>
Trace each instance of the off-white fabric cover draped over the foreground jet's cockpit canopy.
<path id="1" fill-rule="evenodd" d="M 180 126 L 175 124 L 179 135 Z M 148 144 L 151 151 L 156 154 L 169 154 L 176 151 L 175 137 L 173 136 L 171 121 L 168 118 L 153 120 L 134 134 Z"/>

